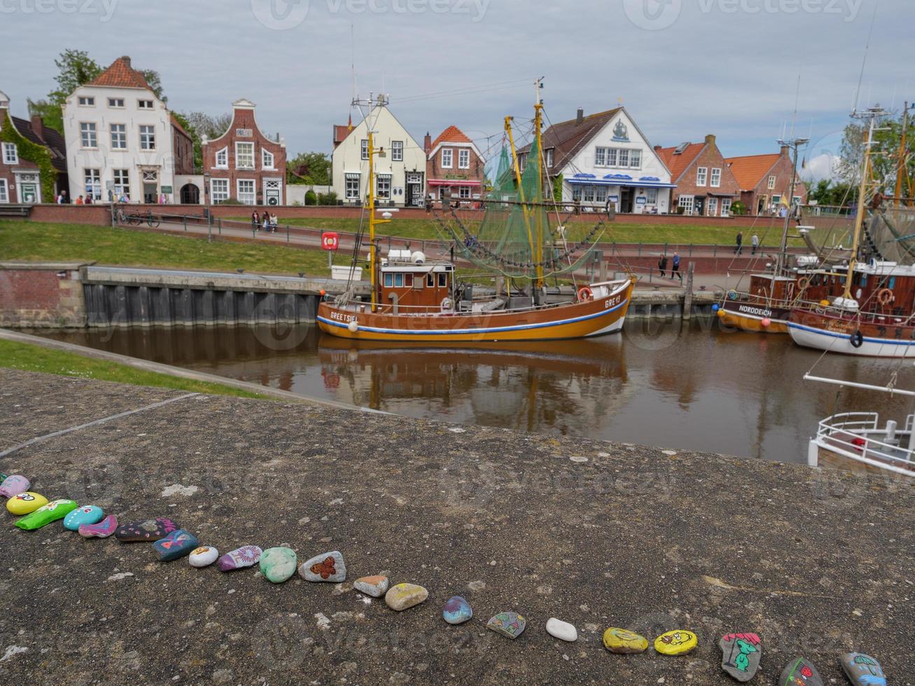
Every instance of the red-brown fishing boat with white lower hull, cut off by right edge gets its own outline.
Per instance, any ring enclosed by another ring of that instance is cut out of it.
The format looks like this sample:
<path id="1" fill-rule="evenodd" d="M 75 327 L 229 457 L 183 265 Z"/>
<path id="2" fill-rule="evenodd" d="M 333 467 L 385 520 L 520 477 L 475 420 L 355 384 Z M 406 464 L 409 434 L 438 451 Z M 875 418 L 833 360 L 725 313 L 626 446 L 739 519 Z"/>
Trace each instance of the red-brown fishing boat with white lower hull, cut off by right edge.
<path id="1" fill-rule="evenodd" d="M 877 259 L 863 244 L 868 200 L 875 225 L 882 212 L 872 179 L 877 120 L 886 113 L 868 110 L 867 142 L 858 193 L 851 257 L 842 295 L 791 309 L 791 338 L 806 348 L 877 358 L 915 358 L 915 266 Z M 859 262 L 859 258 L 865 261 Z"/>

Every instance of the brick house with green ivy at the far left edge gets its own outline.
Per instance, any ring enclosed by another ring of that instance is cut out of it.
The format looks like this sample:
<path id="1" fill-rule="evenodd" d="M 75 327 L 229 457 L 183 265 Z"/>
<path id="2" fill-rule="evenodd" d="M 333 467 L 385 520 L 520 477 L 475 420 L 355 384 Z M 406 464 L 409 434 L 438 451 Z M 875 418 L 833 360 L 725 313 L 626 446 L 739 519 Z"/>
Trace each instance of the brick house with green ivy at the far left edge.
<path id="1" fill-rule="evenodd" d="M 14 117 L 3 91 L 0 91 L 0 139 L 0 203 L 54 202 L 59 191 L 67 188 L 67 146 L 63 136 L 45 126 L 41 117 L 31 120 Z M 38 152 L 32 145 L 44 150 Z M 43 165 L 39 165 L 41 157 L 45 158 Z"/>

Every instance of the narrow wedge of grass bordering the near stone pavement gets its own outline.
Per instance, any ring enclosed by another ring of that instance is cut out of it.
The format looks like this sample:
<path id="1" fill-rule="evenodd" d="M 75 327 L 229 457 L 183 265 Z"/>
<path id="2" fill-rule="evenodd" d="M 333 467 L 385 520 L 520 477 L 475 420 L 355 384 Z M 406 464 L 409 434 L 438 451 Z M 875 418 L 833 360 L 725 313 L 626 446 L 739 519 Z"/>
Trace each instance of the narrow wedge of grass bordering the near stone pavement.
<path id="1" fill-rule="evenodd" d="M 136 370 L 124 364 L 104 359 L 84 358 L 71 352 L 43 348 L 28 343 L 0 339 L 0 367 L 13 370 L 43 371 L 48 374 L 117 381 L 135 386 L 156 386 L 176 391 L 235 395 L 241 398 L 269 399 L 269 396 L 241 391 L 219 383 L 192 381 L 180 377 L 158 374 L 154 371 Z"/>

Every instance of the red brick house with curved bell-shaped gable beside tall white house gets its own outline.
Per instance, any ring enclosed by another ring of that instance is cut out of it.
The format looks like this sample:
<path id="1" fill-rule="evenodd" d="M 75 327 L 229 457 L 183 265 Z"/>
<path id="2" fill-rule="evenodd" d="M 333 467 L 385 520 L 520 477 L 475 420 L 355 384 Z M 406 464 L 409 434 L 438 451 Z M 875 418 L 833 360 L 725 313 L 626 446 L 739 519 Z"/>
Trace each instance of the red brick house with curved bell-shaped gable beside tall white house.
<path id="1" fill-rule="evenodd" d="M 257 126 L 254 103 L 232 102 L 232 122 L 219 138 L 202 142 L 210 202 L 235 198 L 245 205 L 285 205 L 285 142 Z"/>

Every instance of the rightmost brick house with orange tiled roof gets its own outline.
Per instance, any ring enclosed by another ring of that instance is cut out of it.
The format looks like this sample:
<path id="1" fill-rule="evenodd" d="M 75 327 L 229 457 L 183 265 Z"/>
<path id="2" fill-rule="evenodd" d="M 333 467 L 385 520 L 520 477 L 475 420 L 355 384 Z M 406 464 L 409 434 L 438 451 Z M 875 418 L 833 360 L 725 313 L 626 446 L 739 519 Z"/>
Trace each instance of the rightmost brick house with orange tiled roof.
<path id="1" fill-rule="evenodd" d="M 791 149 L 782 145 L 781 151 L 772 155 L 728 157 L 727 165 L 740 186 L 740 201 L 752 216 L 777 214 L 783 206 L 782 199 L 791 192 L 794 162 Z M 798 178 L 794 188 L 795 202 L 807 202 L 807 187 Z M 790 199 L 789 199 L 790 202 Z"/>

